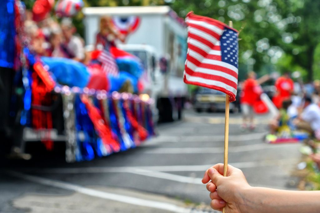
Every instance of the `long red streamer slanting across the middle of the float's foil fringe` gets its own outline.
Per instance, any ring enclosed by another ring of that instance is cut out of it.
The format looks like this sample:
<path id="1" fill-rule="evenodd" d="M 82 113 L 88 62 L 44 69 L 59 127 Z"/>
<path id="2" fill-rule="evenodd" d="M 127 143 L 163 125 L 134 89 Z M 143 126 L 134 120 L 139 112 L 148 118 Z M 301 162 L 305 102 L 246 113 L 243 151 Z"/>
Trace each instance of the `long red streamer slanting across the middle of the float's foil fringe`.
<path id="1" fill-rule="evenodd" d="M 103 144 L 106 147 L 110 147 L 114 152 L 119 152 L 120 145 L 112 138 L 111 129 L 102 118 L 100 110 L 93 105 L 86 95 L 81 95 L 81 101 L 84 103 L 88 111 L 89 118 L 91 119 L 94 128 L 97 130 Z"/>

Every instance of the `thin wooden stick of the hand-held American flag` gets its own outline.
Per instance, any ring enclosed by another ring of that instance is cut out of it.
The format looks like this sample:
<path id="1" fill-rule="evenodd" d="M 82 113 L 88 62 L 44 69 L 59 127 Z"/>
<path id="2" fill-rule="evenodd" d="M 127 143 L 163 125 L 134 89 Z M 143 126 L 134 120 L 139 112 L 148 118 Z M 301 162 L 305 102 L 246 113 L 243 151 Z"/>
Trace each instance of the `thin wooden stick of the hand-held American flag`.
<path id="1" fill-rule="evenodd" d="M 229 21 L 229 27 L 233 27 L 232 21 Z M 228 171 L 228 147 L 229 147 L 229 95 L 226 95 L 226 112 L 224 120 L 224 161 L 223 161 L 223 176 L 227 176 Z M 225 208 L 222 209 L 225 213 Z"/>

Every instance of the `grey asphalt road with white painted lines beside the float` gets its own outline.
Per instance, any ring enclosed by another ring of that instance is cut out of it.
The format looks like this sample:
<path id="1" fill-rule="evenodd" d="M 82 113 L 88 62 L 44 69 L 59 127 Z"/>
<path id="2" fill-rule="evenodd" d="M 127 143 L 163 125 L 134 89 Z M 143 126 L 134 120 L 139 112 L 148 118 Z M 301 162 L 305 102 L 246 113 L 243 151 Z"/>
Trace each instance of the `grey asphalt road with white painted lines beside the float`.
<path id="1" fill-rule="evenodd" d="M 240 115 L 230 114 L 229 164 L 252 186 L 294 190 L 300 145 L 265 144 L 267 121 L 260 116 L 254 131 L 242 131 Z M 67 164 L 63 153 L 42 151 L 30 161 L 3 160 L 0 212 L 214 212 L 201 178 L 223 162 L 224 114 L 189 111 L 158 133 L 140 147 L 90 162 Z"/>

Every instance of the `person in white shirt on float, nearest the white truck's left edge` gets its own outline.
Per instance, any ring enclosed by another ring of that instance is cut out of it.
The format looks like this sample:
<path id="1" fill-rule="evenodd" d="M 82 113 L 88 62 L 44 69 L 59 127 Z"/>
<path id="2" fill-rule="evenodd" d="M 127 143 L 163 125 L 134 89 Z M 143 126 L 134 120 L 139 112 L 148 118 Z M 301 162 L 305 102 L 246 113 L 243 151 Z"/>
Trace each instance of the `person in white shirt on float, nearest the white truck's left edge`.
<path id="1" fill-rule="evenodd" d="M 70 19 L 63 19 L 61 29 L 64 36 L 64 44 L 62 48 L 65 54 L 76 61 L 84 60 L 84 44 L 81 39 L 74 35 L 76 28 L 73 26 Z"/>

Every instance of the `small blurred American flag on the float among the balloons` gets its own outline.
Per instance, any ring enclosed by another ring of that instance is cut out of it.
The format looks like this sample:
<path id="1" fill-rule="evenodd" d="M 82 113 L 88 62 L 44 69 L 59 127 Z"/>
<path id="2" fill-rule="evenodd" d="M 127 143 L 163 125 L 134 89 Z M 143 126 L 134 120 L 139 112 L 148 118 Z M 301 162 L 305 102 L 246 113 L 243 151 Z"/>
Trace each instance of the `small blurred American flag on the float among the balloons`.
<path id="1" fill-rule="evenodd" d="M 102 64 L 102 70 L 105 73 L 117 76 L 119 74 L 116 60 L 110 53 L 110 47 L 107 45 L 98 56 L 98 61 Z"/>

